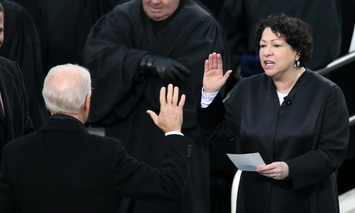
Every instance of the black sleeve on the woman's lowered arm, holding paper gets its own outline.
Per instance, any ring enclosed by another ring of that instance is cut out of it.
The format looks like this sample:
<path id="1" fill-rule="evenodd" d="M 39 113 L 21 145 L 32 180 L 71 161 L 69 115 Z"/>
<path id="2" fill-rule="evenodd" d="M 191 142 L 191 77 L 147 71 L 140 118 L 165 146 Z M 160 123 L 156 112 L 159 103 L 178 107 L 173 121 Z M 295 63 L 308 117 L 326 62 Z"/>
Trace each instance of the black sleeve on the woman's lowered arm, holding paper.
<path id="1" fill-rule="evenodd" d="M 331 89 L 323 104 L 324 113 L 318 117 L 321 127 L 313 151 L 287 160 L 293 190 L 315 184 L 334 173 L 345 158 L 349 141 L 349 114 L 344 95 L 338 86 Z M 291 184 L 291 183 L 290 183 Z"/>

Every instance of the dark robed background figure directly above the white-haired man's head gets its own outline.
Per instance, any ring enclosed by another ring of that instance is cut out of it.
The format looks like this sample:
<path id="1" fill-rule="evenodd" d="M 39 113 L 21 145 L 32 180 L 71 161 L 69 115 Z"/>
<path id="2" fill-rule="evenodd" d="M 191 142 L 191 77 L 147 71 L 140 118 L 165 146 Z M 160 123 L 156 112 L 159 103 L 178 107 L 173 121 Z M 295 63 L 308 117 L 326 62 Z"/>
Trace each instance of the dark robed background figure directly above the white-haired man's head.
<path id="1" fill-rule="evenodd" d="M 82 64 L 93 24 L 118 0 L 14 0 L 31 14 L 40 37 L 45 73 L 56 65 Z"/>

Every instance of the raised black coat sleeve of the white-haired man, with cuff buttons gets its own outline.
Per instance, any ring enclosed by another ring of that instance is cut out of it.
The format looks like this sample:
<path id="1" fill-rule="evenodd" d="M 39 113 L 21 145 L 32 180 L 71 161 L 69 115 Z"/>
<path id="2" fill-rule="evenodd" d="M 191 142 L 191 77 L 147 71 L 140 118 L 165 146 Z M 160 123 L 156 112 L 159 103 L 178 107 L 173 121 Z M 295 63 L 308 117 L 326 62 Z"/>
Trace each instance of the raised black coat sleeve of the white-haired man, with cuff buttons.
<path id="1" fill-rule="evenodd" d="M 115 189 L 122 197 L 138 200 L 177 200 L 186 189 L 193 145 L 193 141 L 184 136 L 165 136 L 162 164 L 155 169 L 137 162 L 127 154 L 121 143 L 117 143 L 112 154 Z M 186 154 L 188 150 L 191 155 Z"/>

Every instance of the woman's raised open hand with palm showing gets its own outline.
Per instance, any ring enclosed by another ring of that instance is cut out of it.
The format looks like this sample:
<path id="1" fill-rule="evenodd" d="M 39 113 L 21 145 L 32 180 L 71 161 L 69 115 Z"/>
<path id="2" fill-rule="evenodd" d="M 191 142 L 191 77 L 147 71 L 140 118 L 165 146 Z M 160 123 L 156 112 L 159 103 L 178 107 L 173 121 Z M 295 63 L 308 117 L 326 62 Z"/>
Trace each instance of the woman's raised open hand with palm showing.
<path id="1" fill-rule="evenodd" d="M 209 54 L 208 60 L 204 62 L 203 92 L 218 92 L 232 73 L 228 70 L 223 76 L 222 57 L 220 54 Z"/>

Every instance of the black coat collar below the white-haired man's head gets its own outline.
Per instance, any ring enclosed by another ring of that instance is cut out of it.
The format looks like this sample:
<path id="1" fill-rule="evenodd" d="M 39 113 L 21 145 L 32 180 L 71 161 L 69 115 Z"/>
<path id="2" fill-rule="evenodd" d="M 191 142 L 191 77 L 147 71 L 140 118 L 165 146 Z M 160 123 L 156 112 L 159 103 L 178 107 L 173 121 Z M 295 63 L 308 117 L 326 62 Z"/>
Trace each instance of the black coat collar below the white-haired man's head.
<path id="1" fill-rule="evenodd" d="M 60 114 L 63 115 L 63 114 Z M 89 133 L 86 127 L 76 118 L 64 115 L 58 118 L 58 115 L 52 115 L 49 120 L 38 131 L 71 131 Z"/>

